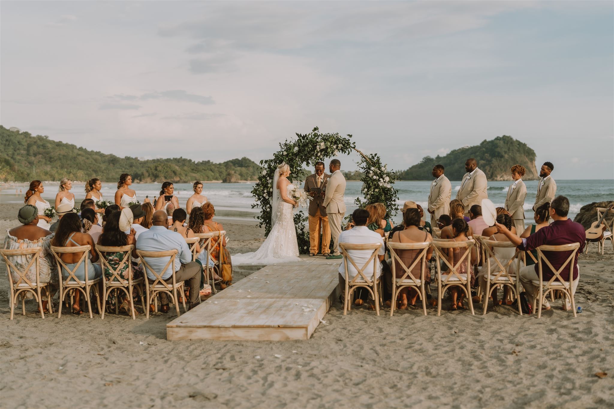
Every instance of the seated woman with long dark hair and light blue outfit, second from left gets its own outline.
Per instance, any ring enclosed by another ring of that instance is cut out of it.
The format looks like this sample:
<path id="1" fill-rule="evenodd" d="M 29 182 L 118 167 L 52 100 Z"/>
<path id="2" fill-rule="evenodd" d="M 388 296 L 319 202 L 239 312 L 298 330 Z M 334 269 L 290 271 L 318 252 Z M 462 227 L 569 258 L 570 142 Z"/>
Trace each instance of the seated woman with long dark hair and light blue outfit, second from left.
<path id="1" fill-rule="evenodd" d="M 85 264 L 87 263 L 87 278 L 88 280 L 95 280 L 96 278 L 101 277 L 101 267 L 100 264 L 93 264 L 98 260 L 98 253 L 96 253 L 96 245 L 94 244 L 94 240 L 91 239 L 91 235 L 88 233 L 81 232 L 81 222 L 79 220 L 79 216 L 77 213 L 66 213 L 62 220 L 60 220 L 60 225 L 58 226 L 57 231 L 55 232 L 55 237 L 51 242 L 53 246 L 57 247 L 79 247 L 90 245 L 90 257 L 86 257 L 84 262 L 79 264 L 79 267 L 74 272 L 77 280 L 84 281 L 85 280 Z M 77 262 L 83 256 L 83 253 L 62 253 L 60 254 L 61 261 L 66 264 L 68 269 L 74 269 L 77 266 Z M 67 280 L 69 277 L 68 271 L 62 266 L 62 278 Z M 80 315 L 83 313 L 81 310 L 79 301 L 80 301 L 80 291 L 75 291 L 74 296 L 74 304 L 72 304 L 72 313 Z"/>

